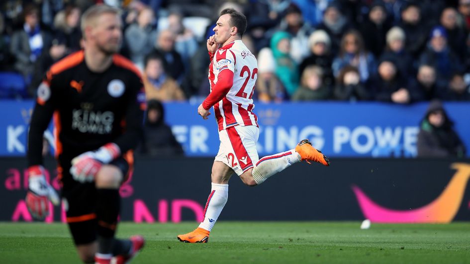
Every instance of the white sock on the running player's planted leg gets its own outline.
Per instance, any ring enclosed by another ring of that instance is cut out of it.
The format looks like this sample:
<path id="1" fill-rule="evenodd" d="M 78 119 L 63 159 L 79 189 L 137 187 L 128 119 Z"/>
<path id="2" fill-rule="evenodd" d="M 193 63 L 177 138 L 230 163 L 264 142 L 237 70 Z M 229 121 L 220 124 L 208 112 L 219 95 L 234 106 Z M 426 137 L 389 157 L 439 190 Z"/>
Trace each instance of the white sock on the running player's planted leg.
<path id="1" fill-rule="evenodd" d="M 210 231 L 228 199 L 228 184 L 212 183 L 211 192 L 204 208 L 204 220 L 199 227 Z"/>

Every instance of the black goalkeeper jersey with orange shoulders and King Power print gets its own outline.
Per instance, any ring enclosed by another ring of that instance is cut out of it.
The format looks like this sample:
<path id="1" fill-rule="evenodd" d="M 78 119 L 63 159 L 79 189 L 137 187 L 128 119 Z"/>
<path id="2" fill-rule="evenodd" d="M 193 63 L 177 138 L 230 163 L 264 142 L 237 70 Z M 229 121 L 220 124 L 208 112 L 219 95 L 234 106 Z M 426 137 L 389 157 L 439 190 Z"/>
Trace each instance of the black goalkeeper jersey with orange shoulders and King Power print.
<path id="1" fill-rule="evenodd" d="M 108 142 L 116 143 L 121 153 L 138 144 L 145 106 L 139 70 L 114 55 L 111 66 L 96 73 L 84 57 L 79 51 L 57 62 L 38 87 L 28 134 L 29 166 L 42 164 L 43 132 L 52 117 L 59 161 Z"/>

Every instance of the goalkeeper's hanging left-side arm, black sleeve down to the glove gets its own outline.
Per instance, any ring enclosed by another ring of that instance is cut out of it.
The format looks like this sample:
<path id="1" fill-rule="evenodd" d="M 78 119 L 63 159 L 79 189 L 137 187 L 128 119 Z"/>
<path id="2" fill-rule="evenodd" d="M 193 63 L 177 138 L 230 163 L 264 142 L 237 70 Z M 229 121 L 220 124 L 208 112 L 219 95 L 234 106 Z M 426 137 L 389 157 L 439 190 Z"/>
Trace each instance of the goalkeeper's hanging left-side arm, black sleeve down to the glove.
<path id="1" fill-rule="evenodd" d="M 49 213 L 49 200 L 59 204 L 59 197 L 55 190 L 46 182 L 45 170 L 42 166 L 43 134 L 47 129 L 54 113 L 52 75 L 38 87 L 36 105 L 29 124 L 28 132 L 28 192 L 26 206 L 36 219 L 44 219 Z"/>

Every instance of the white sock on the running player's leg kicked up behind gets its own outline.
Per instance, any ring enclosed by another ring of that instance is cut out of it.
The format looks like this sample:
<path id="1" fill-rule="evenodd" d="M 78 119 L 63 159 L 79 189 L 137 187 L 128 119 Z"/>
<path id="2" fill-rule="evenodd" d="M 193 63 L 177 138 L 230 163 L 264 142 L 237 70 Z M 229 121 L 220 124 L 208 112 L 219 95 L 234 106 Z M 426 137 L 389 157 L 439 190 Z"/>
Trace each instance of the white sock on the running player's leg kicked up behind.
<path id="1" fill-rule="evenodd" d="M 291 149 L 271 156 L 262 157 L 258 163 L 256 163 L 251 174 L 256 184 L 260 185 L 269 177 L 300 161 L 300 154 L 298 154 L 295 149 Z"/>

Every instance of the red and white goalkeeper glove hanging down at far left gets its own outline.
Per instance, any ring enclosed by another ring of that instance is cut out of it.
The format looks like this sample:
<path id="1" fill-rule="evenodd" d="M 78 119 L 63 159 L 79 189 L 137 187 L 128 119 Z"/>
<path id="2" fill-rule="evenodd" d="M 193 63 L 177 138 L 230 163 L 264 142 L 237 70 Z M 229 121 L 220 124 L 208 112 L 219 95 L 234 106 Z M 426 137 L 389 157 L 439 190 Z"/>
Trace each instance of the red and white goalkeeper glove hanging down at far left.
<path id="1" fill-rule="evenodd" d="M 26 207 L 35 219 L 43 220 L 49 214 L 49 200 L 59 205 L 59 196 L 46 182 L 45 170 L 41 165 L 29 167 L 28 175 Z"/>

